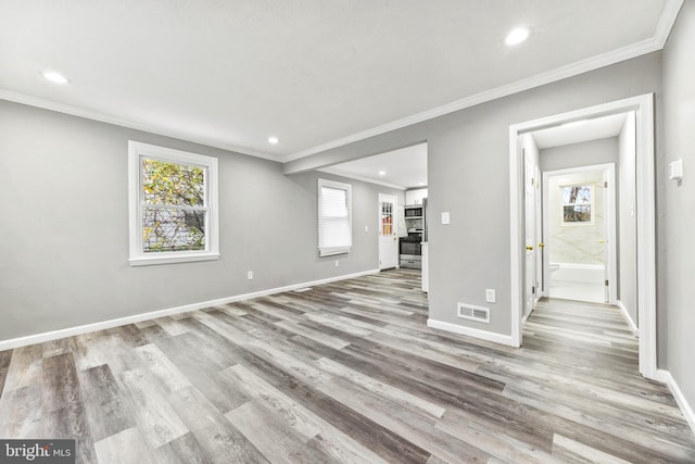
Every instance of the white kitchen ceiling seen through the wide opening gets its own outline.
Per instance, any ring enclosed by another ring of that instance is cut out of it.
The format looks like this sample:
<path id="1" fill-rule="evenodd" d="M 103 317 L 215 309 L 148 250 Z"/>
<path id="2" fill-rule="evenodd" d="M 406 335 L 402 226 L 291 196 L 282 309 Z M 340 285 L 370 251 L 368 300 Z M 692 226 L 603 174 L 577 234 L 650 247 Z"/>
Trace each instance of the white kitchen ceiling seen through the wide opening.
<path id="1" fill-rule="evenodd" d="M 427 143 L 340 163 L 323 170 L 399 189 L 427 186 Z M 383 172 L 380 175 L 379 172 Z"/>

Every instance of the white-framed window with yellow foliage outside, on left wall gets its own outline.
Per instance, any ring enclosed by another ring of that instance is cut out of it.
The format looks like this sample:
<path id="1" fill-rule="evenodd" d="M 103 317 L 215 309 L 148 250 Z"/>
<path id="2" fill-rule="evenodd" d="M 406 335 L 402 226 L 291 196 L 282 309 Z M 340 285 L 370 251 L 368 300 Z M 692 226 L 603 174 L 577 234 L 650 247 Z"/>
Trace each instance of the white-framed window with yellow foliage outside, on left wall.
<path id="1" fill-rule="evenodd" d="M 128 142 L 130 265 L 219 258 L 217 159 Z"/>

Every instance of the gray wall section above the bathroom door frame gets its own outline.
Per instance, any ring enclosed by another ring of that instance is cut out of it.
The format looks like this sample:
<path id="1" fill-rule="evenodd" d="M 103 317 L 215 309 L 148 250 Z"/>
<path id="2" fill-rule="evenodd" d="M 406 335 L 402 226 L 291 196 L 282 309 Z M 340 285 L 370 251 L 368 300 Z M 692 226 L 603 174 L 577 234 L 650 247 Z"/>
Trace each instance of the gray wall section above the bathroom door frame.
<path id="1" fill-rule="evenodd" d="M 541 171 L 544 173 L 606 163 L 616 163 L 617 167 L 618 161 L 617 137 L 541 150 Z"/>

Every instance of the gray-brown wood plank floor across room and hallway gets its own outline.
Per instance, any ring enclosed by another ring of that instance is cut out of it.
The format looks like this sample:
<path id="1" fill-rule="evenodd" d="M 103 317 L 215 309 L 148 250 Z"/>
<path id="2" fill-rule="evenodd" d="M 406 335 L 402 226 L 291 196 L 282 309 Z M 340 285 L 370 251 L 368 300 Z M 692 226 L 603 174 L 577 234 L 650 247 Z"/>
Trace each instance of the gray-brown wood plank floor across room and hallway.
<path id="1" fill-rule="evenodd" d="M 523 347 L 429 329 L 391 271 L 0 352 L 0 438 L 83 463 L 674 463 L 695 436 L 620 312 L 542 302 Z"/>

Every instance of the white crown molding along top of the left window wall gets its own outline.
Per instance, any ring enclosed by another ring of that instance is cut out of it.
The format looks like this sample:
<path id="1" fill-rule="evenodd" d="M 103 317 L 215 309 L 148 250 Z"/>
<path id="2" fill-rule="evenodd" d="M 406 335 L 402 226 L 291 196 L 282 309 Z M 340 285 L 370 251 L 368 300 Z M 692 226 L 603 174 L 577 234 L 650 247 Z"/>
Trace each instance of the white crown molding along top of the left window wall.
<path id="1" fill-rule="evenodd" d="M 263 153 L 260 151 L 232 146 L 229 143 L 220 143 L 218 140 L 213 140 L 213 139 L 203 138 L 203 137 L 195 137 L 195 136 L 191 136 L 190 134 L 185 134 L 178 130 L 164 129 L 162 127 L 143 124 L 136 121 L 123 120 L 123 118 L 110 116 L 108 114 L 99 113 L 97 111 L 87 110 L 87 109 L 75 106 L 72 104 L 58 103 L 55 101 L 46 100 L 38 97 L 31 97 L 31 96 L 15 92 L 12 90 L 0 89 L 0 100 L 13 101 L 15 103 L 22 103 L 29 106 L 41 108 L 43 110 L 65 113 L 73 116 L 85 117 L 87 120 L 92 120 L 92 121 L 99 121 L 101 123 L 113 124 L 116 126 L 128 127 L 131 129 L 142 130 L 150 134 L 172 137 L 172 138 L 176 138 L 184 141 L 200 143 L 200 145 L 204 145 L 212 148 L 219 148 L 222 150 L 233 151 L 240 154 L 247 154 L 249 156 L 262 158 L 264 160 L 275 161 L 278 163 L 283 161 L 282 156 L 279 156 L 276 154 Z"/>

